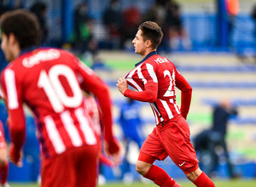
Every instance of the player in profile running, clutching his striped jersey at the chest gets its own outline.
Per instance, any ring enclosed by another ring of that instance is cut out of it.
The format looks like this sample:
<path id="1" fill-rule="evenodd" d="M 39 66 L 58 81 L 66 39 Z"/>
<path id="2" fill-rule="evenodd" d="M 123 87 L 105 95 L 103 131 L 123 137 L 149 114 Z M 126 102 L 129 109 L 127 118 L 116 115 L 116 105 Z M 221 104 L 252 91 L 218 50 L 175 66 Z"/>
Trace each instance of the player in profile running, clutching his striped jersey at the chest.
<path id="1" fill-rule="evenodd" d="M 215 186 L 198 167 L 195 150 L 190 142 L 189 113 L 192 88 L 176 70 L 175 65 L 156 53 L 163 33 L 160 26 L 151 21 L 138 27 L 132 43 L 135 53 L 143 60 L 136 64 L 126 77 L 119 78 L 117 87 L 125 97 L 148 102 L 153 110 L 156 127 L 143 143 L 137 160 L 137 172 L 159 186 L 180 186 L 166 171 L 154 165 L 154 161 L 172 158 L 177 167 L 196 186 Z M 128 88 L 128 84 L 137 91 Z M 176 104 L 175 87 L 181 90 L 181 108 Z"/>

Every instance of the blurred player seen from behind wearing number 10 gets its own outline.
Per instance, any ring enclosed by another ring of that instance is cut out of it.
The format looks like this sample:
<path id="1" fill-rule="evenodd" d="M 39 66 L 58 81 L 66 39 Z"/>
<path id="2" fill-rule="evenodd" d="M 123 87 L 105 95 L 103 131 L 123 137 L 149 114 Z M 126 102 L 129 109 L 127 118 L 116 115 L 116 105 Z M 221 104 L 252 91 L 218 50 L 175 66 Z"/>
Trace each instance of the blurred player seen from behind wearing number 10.
<path id="1" fill-rule="evenodd" d="M 57 48 L 38 48 L 40 32 L 34 14 L 11 11 L 1 16 L 0 24 L 3 52 L 11 61 L 1 75 L 12 139 L 10 160 L 16 165 L 21 161 L 26 137 L 22 105 L 26 104 L 37 121 L 43 155 L 41 185 L 95 187 L 100 145 L 81 88 L 98 99 L 106 152 L 119 156 L 119 144 L 112 132 L 108 86 L 73 54 Z"/>

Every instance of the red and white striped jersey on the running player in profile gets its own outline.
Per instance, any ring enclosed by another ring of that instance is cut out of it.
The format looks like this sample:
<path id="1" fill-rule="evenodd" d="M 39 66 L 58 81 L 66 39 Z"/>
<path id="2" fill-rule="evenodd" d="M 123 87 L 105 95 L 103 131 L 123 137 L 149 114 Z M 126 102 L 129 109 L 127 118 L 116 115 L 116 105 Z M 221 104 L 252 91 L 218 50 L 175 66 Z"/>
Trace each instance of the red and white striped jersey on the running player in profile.
<path id="1" fill-rule="evenodd" d="M 145 59 L 137 63 L 125 79 L 138 91 L 127 89 L 125 96 L 149 102 L 157 125 L 180 113 L 186 118 L 189 112 L 192 88 L 169 59 L 161 57 L 155 51 L 151 52 Z M 181 111 L 176 104 L 175 87 L 182 91 Z M 155 99 L 152 99 L 154 96 Z"/>

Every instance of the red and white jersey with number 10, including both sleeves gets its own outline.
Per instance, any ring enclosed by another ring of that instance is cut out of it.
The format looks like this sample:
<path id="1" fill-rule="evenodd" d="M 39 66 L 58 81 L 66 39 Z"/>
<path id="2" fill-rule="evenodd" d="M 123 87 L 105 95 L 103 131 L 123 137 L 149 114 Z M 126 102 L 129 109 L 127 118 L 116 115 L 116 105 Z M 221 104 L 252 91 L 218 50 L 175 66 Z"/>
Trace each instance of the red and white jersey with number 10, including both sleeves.
<path id="1" fill-rule="evenodd" d="M 21 54 L 3 70 L 1 84 L 15 147 L 22 147 L 25 141 L 23 103 L 36 117 L 38 140 L 46 158 L 69 148 L 97 144 L 81 88 L 96 95 L 108 132 L 111 129 L 108 87 L 67 51 L 38 48 Z M 112 138 L 112 131 L 109 133 Z"/>

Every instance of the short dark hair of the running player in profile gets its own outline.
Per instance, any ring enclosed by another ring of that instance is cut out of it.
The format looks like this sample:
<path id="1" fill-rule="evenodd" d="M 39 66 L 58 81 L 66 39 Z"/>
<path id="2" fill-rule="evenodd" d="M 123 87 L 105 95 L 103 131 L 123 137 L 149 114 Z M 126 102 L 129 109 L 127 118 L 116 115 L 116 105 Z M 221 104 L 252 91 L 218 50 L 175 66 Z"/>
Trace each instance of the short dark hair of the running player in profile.
<path id="1" fill-rule="evenodd" d="M 142 31 L 143 40 L 150 40 L 152 42 L 152 48 L 157 48 L 164 36 L 160 26 L 153 21 L 145 21 L 138 27 Z"/>

